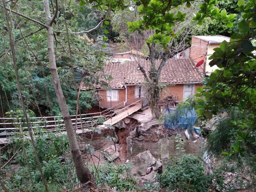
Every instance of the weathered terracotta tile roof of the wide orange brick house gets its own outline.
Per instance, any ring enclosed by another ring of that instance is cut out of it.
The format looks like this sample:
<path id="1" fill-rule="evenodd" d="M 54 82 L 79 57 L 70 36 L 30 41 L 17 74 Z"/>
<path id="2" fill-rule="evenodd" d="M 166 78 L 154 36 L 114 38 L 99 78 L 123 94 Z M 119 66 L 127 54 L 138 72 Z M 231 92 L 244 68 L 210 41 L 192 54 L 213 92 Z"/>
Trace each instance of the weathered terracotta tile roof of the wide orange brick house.
<path id="1" fill-rule="evenodd" d="M 161 60 L 155 60 L 157 67 Z M 151 62 L 149 60 L 141 61 L 141 66 L 148 74 Z M 121 88 L 125 84 L 141 84 L 144 82 L 144 76 L 140 70 L 137 70 L 136 61 L 127 61 L 124 63 L 108 63 L 104 68 L 104 73 L 113 77 L 108 83 L 112 88 Z M 169 59 L 162 69 L 160 76 L 161 83 L 201 83 L 202 75 L 195 67 L 195 63 L 190 58 Z M 100 88 L 96 86 L 96 88 Z M 85 89 L 85 88 L 82 88 Z"/>

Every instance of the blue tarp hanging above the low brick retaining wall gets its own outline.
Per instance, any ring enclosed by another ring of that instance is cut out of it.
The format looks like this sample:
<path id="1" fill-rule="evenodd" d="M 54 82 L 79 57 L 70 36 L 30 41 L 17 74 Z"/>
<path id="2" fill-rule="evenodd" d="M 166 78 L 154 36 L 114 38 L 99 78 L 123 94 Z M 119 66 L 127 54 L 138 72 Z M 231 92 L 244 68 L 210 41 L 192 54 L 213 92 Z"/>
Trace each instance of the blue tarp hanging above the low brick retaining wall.
<path id="1" fill-rule="evenodd" d="M 186 115 L 180 116 L 175 113 L 176 109 L 169 109 L 165 106 L 164 125 L 167 129 L 174 129 L 180 127 L 180 129 L 192 128 L 196 121 L 196 112 L 194 109 L 187 110 Z"/>

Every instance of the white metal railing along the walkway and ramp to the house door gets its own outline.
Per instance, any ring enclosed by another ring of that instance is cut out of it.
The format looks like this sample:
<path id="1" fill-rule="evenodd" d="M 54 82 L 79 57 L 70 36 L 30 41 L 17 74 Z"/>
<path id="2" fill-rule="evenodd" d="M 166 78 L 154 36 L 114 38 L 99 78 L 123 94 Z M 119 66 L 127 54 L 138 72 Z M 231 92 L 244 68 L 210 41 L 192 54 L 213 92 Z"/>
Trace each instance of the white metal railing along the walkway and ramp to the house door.
<path id="1" fill-rule="evenodd" d="M 97 113 L 89 113 L 89 114 L 81 114 L 77 115 L 77 129 L 84 129 L 88 127 L 93 127 L 95 123 L 97 123 L 99 117 L 104 117 L 105 120 L 111 120 L 112 117 L 124 112 L 130 107 L 137 106 L 142 104 L 142 98 L 138 98 L 138 96 L 130 98 L 126 101 L 120 102 L 111 108 L 108 108 L 104 111 Z M 122 106 L 122 107 L 121 107 Z M 91 116 L 91 117 L 88 117 Z M 73 127 L 75 127 L 75 115 L 71 115 L 71 121 Z M 93 120 L 92 120 L 92 119 Z M 56 131 L 56 129 L 65 131 L 64 121 L 62 116 L 49 116 L 49 117 L 30 117 L 30 125 L 31 129 L 34 131 L 40 130 L 41 132 L 49 132 Z M 16 117 L 4 117 L 0 118 L 0 137 L 14 135 L 15 133 L 26 133 L 28 132 L 27 124 L 22 118 Z M 112 124 L 112 123 L 111 123 Z"/>

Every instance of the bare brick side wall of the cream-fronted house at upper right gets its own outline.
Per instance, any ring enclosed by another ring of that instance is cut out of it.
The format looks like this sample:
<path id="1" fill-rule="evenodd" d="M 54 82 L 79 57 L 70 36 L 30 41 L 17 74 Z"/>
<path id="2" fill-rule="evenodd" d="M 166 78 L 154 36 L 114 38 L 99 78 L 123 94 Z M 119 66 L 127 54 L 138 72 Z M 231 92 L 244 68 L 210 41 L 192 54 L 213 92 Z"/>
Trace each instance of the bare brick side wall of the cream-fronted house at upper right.
<path id="1" fill-rule="evenodd" d="M 200 40 L 192 36 L 190 57 L 196 62 L 204 60 L 204 64 L 201 65 L 204 69 L 207 59 L 207 47 L 208 43 L 206 41 Z"/>

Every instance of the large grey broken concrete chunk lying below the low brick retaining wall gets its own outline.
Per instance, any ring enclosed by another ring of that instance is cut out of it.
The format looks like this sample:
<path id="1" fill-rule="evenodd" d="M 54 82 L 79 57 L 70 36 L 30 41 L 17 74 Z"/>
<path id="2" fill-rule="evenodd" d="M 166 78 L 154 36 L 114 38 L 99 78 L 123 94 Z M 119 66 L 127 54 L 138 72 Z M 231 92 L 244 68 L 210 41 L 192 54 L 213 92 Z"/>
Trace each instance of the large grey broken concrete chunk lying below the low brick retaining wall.
<path id="1" fill-rule="evenodd" d="M 146 175 L 147 168 L 156 163 L 155 157 L 152 156 L 150 151 L 144 151 L 137 154 L 133 160 L 133 175 Z"/>

